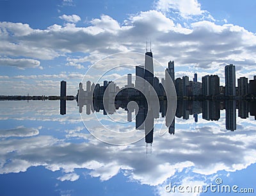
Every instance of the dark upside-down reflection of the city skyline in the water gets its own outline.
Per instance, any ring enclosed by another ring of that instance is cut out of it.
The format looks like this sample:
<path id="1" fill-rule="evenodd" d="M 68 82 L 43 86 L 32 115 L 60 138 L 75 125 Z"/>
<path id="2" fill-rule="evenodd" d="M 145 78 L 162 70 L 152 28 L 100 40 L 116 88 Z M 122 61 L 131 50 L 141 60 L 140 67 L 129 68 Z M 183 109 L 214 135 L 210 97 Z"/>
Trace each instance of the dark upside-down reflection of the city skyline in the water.
<path id="1" fill-rule="evenodd" d="M 157 107 L 155 107 L 156 105 L 154 103 L 148 104 L 143 98 L 133 101 L 138 104 L 138 107 L 131 108 L 130 110 L 127 109 L 127 105 L 131 100 L 125 99 L 116 99 L 115 102 L 113 102 L 113 100 L 112 102 L 106 100 L 104 103 L 102 99 L 81 99 L 77 103 L 79 112 L 83 112 L 83 107 L 85 105 L 86 114 L 88 115 L 91 114 L 91 112 L 100 112 L 100 110 L 103 111 L 104 115 L 114 114 L 116 110 L 121 108 L 127 110 L 127 121 L 132 121 L 132 113 L 135 112 L 136 130 L 145 130 L 145 142 L 151 146 L 154 135 L 154 119 L 159 118 L 159 113 L 161 117 L 166 117 L 166 100 L 159 101 L 159 111 L 156 110 Z M 150 107 L 148 107 L 148 105 L 150 105 Z M 250 116 L 256 116 L 256 102 L 246 102 L 245 100 L 177 100 L 175 116 L 185 120 L 189 119 L 189 116 L 193 116 L 195 123 L 197 123 L 198 114 L 202 113 L 202 119 L 207 121 L 218 121 L 220 119 L 220 110 L 225 110 L 226 129 L 233 132 L 236 130 L 237 109 L 238 116 L 243 119 L 249 117 L 249 112 Z M 61 110 L 64 111 L 64 109 Z M 166 119 L 166 124 L 171 124 L 171 126 L 169 126 L 169 133 L 170 135 L 174 135 L 175 119 L 173 119 L 172 122 L 168 122 L 168 119 Z"/>

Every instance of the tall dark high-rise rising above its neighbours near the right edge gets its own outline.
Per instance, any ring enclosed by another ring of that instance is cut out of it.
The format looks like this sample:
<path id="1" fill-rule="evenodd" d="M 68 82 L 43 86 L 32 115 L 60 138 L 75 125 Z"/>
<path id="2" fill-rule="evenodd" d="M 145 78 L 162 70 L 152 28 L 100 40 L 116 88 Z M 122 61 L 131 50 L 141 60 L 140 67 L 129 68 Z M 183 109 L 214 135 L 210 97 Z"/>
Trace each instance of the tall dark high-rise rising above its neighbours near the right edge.
<path id="1" fill-rule="evenodd" d="M 236 67 L 233 64 L 225 66 L 225 96 L 236 96 Z"/>

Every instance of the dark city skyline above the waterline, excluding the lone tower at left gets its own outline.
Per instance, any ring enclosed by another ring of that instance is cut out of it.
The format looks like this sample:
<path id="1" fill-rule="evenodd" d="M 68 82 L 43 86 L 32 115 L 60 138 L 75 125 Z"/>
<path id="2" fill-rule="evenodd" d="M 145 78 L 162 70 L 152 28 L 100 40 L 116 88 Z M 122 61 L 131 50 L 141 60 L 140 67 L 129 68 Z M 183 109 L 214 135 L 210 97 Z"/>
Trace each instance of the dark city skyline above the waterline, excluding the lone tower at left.
<path id="1" fill-rule="evenodd" d="M 155 91 L 157 96 L 166 96 L 164 87 L 170 88 L 170 80 L 167 80 L 166 74 L 170 75 L 172 83 L 175 85 L 175 90 L 178 98 L 234 98 L 234 97 L 255 97 L 256 96 L 256 76 L 248 81 L 246 77 L 237 79 L 236 87 L 236 67 L 233 64 L 225 66 L 225 86 L 220 86 L 220 77 L 218 75 L 205 75 L 202 77 L 202 82 L 198 82 L 197 73 L 194 74 L 193 80 L 189 80 L 188 76 L 175 79 L 174 62 L 168 63 L 168 68 L 165 70 L 165 79 L 161 82 L 157 77 L 154 77 L 152 52 L 146 52 L 145 65 L 136 66 L 136 80 L 135 85 L 132 84 L 132 75 L 127 75 L 127 85 L 122 87 L 116 86 L 115 82 L 104 81 L 103 86 L 100 84 L 91 84 L 86 82 L 86 90 L 83 89 L 83 84 L 79 84 L 79 93 L 77 96 L 93 98 L 102 98 L 105 96 L 114 96 L 116 92 L 117 98 L 129 98 L 140 96 L 141 92 L 149 93 Z M 128 88 L 131 87 L 131 88 Z M 133 88 L 135 87 L 135 89 Z M 153 87 L 154 89 L 150 89 Z M 94 90 L 93 90 L 94 89 Z M 108 91 L 106 91 L 108 89 Z M 78 98 L 78 97 L 77 97 Z"/>

